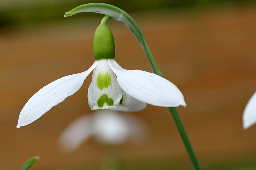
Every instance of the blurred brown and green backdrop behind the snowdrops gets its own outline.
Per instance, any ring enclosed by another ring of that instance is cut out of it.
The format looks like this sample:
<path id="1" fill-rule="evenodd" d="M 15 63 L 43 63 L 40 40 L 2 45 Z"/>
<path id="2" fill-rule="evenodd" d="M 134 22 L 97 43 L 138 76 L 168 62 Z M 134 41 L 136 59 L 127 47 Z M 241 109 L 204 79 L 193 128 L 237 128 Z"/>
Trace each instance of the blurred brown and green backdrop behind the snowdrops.
<path id="1" fill-rule="evenodd" d="M 87 70 L 94 62 L 93 35 L 103 15 L 64 12 L 95 1 L 0 1 L 0 169 L 99 169 L 104 150 L 89 139 L 63 154 L 57 140 L 76 118 L 91 114 L 91 74 L 71 97 L 39 120 L 16 128 L 18 116 L 43 86 Z M 128 12 L 142 29 L 166 79 L 183 93 L 178 111 L 203 169 L 256 169 L 256 125 L 242 128 L 242 113 L 256 91 L 254 1 L 98 1 Z M 118 21 L 108 21 L 116 61 L 152 72 L 137 40 Z M 149 129 L 141 143 L 119 147 L 122 169 L 192 169 L 167 108 L 148 105 L 131 113 Z"/>

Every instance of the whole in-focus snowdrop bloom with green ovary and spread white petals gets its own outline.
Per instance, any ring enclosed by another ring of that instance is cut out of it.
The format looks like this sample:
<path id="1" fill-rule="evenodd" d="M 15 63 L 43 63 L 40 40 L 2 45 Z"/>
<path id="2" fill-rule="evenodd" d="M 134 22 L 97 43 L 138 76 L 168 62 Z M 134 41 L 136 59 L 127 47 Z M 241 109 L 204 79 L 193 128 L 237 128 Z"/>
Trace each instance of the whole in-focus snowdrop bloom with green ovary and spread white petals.
<path id="1" fill-rule="evenodd" d="M 93 52 L 95 62 L 87 71 L 62 77 L 34 94 L 21 110 L 17 128 L 32 123 L 74 94 L 92 71 L 88 88 L 88 104 L 92 110 L 138 111 L 144 109 L 146 103 L 163 107 L 186 106 L 182 93 L 173 83 L 153 73 L 125 70 L 117 64 L 113 34 L 106 21 L 95 31 Z M 129 98 L 133 102 L 126 102 Z"/>

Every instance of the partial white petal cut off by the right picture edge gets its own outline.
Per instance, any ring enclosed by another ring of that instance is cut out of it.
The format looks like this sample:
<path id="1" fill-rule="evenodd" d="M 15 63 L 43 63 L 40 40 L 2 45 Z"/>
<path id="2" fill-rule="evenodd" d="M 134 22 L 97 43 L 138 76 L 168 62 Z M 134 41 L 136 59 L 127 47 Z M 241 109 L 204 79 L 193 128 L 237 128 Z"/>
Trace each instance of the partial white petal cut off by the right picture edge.
<path id="1" fill-rule="evenodd" d="M 243 112 L 243 128 L 247 129 L 256 123 L 256 92 L 250 98 Z"/>

